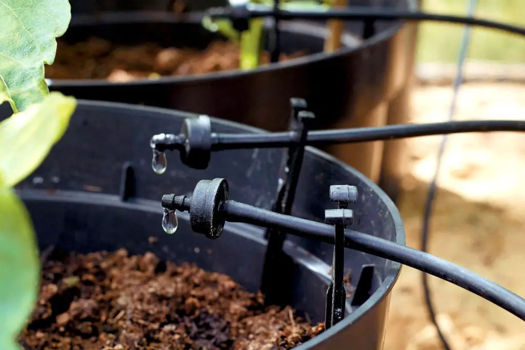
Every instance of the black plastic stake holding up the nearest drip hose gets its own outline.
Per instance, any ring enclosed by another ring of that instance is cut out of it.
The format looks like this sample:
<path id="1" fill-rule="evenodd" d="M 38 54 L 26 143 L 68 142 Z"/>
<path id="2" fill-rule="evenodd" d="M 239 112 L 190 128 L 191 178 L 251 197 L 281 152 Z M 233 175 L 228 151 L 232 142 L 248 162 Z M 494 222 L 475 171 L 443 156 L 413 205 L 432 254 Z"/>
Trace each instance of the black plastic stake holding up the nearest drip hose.
<path id="1" fill-rule="evenodd" d="M 330 200 L 337 201 L 339 209 L 324 211 L 324 221 L 335 227 L 332 260 L 332 280 L 327 290 L 325 328 L 328 329 L 344 317 L 346 290 L 344 288 L 344 229 L 353 222 L 349 203 L 357 201 L 357 188 L 348 185 L 330 186 Z"/>

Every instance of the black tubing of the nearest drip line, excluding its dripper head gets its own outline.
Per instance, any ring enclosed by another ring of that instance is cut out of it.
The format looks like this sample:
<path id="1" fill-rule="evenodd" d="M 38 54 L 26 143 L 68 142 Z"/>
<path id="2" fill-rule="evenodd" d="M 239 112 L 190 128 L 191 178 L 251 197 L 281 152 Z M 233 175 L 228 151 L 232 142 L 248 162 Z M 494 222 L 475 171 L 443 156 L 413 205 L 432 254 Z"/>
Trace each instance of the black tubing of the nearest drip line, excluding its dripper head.
<path id="1" fill-rule="evenodd" d="M 321 222 L 277 214 L 234 200 L 226 200 L 219 210 L 227 221 L 283 229 L 296 236 L 334 244 L 333 226 Z M 521 320 L 525 320 L 525 300 L 519 295 L 474 272 L 429 253 L 351 230 L 345 230 L 345 247 L 374 254 L 432 274 L 475 293 L 518 316 Z"/>

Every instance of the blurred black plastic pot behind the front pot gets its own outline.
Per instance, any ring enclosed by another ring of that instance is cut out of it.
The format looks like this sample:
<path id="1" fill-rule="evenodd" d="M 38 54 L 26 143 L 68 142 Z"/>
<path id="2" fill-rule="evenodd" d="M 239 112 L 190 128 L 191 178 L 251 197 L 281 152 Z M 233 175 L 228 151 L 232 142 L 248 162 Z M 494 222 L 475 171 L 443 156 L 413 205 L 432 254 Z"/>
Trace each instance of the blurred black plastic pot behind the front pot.
<path id="1" fill-rule="evenodd" d="M 354 6 L 406 9 L 411 0 L 363 0 Z M 301 97 L 318 118 L 313 129 L 384 125 L 391 102 L 396 110 L 407 103 L 399 99 L 409 76 L 407 50 L 413 38 L 402 23 L 375 23 L 375 34 L 362 41 L 362 22 L 347 24 L 346 47 L 323 54 L 326 30 L 304 22 L 281 23 L 282 49 L 307 49 L 312 55 L 261 67 L 256 71 L 229 71 L 199 77 L 109 83 L 106 80 L 52 80 L 51 90 L 77 98 L 185 110 L 279 131 L 288 125 L 288 101 Z M 369 33 L 370 34 L 370 33 Z M 204 48 L 215 36 L 195 23 L 180 23 L 166 13 L 102 13 L 74 17 L 65 38 L 77 41 L 96 35 L 117 43 L 145 41 L 163 45 Z M 404 93 L 403 96 L 405 96 Z M 402 104 L 400 107 L 400 103 Z M 393 109 L 392 108 L 392 109 Z M 383 143 L 331 146 L 325 151 L 379 181 Z"/>

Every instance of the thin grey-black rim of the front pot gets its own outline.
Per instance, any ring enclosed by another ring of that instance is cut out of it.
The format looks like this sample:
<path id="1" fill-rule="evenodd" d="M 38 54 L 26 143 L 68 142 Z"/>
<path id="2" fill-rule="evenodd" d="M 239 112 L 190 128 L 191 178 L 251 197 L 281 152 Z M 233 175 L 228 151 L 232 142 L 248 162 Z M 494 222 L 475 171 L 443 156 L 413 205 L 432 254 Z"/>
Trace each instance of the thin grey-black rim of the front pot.
<path id="1" fill-rule="evenodd" d="M 175 111 L 165 108 L 158 108 L 158 107 L 149 107 L 149 106 L 143 106 L 143 105 L 135 105 L 135 104 L 128 104 L 128 103 L 121 103 L 121 102 L 106 102 L 106 101 L 91 101 L 91 100 L 82 100 L 79 99 L 77 108 L 82 108 L 86 106 L 95 106 L 98 108 L 104 108 L 104 107 L 113 107 L 113 108 L 121 108 L 121 109 L 137 109 L 144 112 L 144 114 L 161 114 L 165 116 L 166 118 L 169 118 L 170 116 L 177 116 L 180 118 L 180 116 L 183 116 L 185 118 L 187 117 L 194 117 L 195 113 L 189 113 L 189 112 L 181 112 L 181 111 Z M 247 132 L 253 132 L 253 133 L 267 133 L 267 131 L 254 128 L 253 126 L 244 125 L 228 120 L 218 119 L 211 117 L 212 122 L 218 122 L 225 125 L 230 125 L 235 128 L 244 129 Z M 334 164 L 337 164 L 341 168 L 345 169 L 346 171 L 353 173 L 356 177 L 359 177 L 361 181 L 366 184 L 366 186 L 369 186 L 372 190 L 374 190 L 377 193 L 377 196 L 384 202 L 386 208 L 388 211 L 390 211 L 392 215 L 392 219 L 394 221 L 394 227 L 396 230 L 396 237 L 395 237 L 395 243 L 400 245 L 405 245 L 405 230 L 403 226 L 403 221 L 401 219 L 401 215 L 399 211 L 397 210 L 397 207 L 395 206 L 394 202 L 388 197 L 383 190 L 377 186 L 371 179 L 367 178 L 363 174 L 361 174 L 359 171 L 354 169 L 348 164 L 343 163 L 342 161 L 338 160 L 337 158 L 329 155 L 328 153 L 325 153 L 323 151 L 320 151 L 318 149 L 315 149 L 313 147 L 307 146 L 308 152 L 324 159 L 327 162 L 331 162 Z M 376 303 L 379 303 L 385 296 L 390 292 L 390 290 L 393 288 L 395 281 L 399 277 L 399 274 L 401 272 L 402 265 L 400 263 L 394 262 L 394 261 L 388 261 L 387 262 L 387 272 L 386 276 L 381 282 L 381 285 L 379 288 L 370 296 L 370 298 L 364 302 L 362 305 L 357 307 L 352 313 L 350 313 L 348 316 L 344 317 L 344 319 L 339 322 L 338 324 L 331 327 L 329 330 L 324 331 L 320 335 L 312 338 L 311 340 L 307 341 L 306 343 L 303 343 L 294 349 L 297 350 L 307 350 L 310 347 L 313 347 L 317 344 L 320 344 L 323 341 L 328 340 L 329 337 L 333 336 L 335 333 L 341 331 L 343 328 L 349 326 L 350 324 L 354 323 L 359 319 L 359 317 L 363 316 L 373 305 Z"/>

